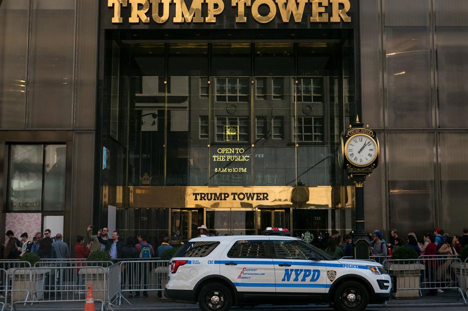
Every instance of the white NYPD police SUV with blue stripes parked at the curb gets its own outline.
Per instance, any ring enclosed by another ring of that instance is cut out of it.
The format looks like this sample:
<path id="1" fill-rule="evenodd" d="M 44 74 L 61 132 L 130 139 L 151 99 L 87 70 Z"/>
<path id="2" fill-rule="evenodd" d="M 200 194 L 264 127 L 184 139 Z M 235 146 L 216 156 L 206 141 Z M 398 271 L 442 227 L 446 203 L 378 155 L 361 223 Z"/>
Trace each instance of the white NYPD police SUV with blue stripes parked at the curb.
<path id="1" fill-rule="evenodd" d="M 165 295 L 202 311 L 232 305 L 328 303 L 361 311 L 390 298 L 391 278 L 372 261 L 334 260 L 294 237 L 214 236 L 185 243 L 170 262 Z"/>

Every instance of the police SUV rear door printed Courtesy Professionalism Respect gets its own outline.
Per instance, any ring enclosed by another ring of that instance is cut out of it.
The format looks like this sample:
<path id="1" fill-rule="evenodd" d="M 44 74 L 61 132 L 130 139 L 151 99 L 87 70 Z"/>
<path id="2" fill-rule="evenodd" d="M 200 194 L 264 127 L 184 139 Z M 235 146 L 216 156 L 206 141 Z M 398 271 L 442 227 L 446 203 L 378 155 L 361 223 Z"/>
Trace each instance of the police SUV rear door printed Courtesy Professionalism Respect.
<path id="1" fill-rule="evenodd" d="M 234 239 L 221 255 L 220 274 L 234 284 L 242 302 L 274 299 L 275 269 L 269 239 Z"/>

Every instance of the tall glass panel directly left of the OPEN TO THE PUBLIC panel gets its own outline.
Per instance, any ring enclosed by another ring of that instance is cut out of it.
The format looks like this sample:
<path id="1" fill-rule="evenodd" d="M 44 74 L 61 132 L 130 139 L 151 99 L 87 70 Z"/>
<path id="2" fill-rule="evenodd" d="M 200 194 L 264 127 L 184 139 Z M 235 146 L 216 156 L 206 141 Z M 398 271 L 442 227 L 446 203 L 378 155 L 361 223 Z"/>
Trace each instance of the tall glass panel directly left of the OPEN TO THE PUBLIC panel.
<path id="1" fill-rule="evenodd" d="M 208 184 L 208 44 L 170 44 L 166 185 Z"/>

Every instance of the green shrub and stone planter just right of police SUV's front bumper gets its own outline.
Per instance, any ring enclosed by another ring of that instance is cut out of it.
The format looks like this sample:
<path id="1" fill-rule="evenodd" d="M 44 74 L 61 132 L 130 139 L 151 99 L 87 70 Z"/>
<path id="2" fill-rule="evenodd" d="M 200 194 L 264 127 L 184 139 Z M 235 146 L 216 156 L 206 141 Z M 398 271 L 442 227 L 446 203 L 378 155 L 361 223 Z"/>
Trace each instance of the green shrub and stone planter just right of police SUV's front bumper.
<path id="1" fill-rule="evenodd" d="M 393 286 L 397 289 L 393 293 L 394 298 L 419 299 L 421 270 L 425 267 L 415 259 L 418 259 L 418 254 L 414 249 L 400 246 L 393 251 L 392 261 L 385 264 L 385 269 L 393 276 Z"/>

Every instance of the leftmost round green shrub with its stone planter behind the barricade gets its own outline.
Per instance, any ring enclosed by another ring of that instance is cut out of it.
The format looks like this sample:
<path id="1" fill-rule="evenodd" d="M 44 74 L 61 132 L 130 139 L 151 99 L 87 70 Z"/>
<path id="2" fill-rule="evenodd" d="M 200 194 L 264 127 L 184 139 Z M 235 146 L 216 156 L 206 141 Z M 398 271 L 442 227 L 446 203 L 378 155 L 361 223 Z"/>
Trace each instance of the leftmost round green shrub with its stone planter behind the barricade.
<path id="1" fill-rule="evenodd" d="M 50 269 L 29 269 L 40 260 L 35 253 L 25 253 L 21 261 L 28 262 L 20 264 L 19 268 L 9 268 L 6 273 L 11 278 L 13 291 L 11 293 L 12 301 L 25 301 L 29 293 L 29 299 L 40 300 L 44 296 L 44 279 L 50 272 Z"/>

